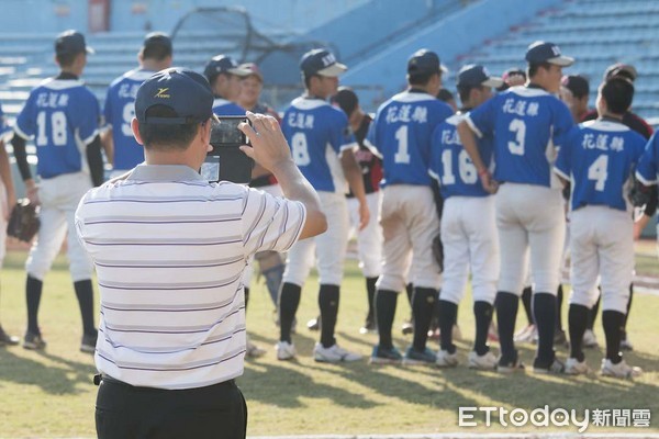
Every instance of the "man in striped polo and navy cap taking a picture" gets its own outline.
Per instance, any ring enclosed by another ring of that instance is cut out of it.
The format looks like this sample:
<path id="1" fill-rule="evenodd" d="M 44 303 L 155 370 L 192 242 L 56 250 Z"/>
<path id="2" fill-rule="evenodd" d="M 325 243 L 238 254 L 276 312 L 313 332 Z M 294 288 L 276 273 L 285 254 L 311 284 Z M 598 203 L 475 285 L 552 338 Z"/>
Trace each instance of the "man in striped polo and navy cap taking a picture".
<path id="1" fill-rule="evenodd" d="M 101 318 L 99 438 L 244 438 L 243 271 L 257 251 L 286 251 L 323 233 L 317 195 L 295 167 L 277 121 L 248 113 L 243 151 L 288 199 L 198 169 L 211 150 L 213 93 L 170 68 L 137 91 L 132 130 L 145 165 L 89 191 L 76 213 L 97 267 Z"/>

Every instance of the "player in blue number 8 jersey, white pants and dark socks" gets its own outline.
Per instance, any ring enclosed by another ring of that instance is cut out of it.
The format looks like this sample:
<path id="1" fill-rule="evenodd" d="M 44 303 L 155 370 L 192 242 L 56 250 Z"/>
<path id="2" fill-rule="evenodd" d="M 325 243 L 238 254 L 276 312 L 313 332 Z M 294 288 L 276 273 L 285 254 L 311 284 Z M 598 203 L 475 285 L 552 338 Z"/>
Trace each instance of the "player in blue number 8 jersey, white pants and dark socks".
<path id="1" fill-rule="evenodd" d="M 334 337 L 349 230 L 346 179 L 359 200 L 360 228 L 369 223 L 364 181 L 354 154 L 356 144 L 348 117 L 340 109 L 327 102 L 336 93 L 338 76 L 347 67 L 337 63 L 331 52 L 313 49 L 302 56 L 300 69 L 305 93 L 294 99 L 287 109 L 282 131 L 295 165 L 319 192 L 327 217 L 327 232 L 314 239 L 297 243 L 288 254 L 279 295 L 280 337 L 277 358 L 288 360 L 295 356 L 291 325 L 298 311 L 302 286 L 313 264 L 315 244 L 321 284 L 321 341 L 314 347 L 314 359 L 325 362 L 356 361 L 361 356 L 340 348 Z"/>

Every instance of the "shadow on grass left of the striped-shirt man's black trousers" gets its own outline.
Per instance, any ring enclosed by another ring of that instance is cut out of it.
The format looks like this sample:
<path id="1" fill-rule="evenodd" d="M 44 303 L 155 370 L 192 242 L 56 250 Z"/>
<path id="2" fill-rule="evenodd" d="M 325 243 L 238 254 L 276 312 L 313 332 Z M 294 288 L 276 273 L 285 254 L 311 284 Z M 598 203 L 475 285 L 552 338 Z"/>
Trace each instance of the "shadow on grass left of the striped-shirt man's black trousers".
<path id="1" fill-rule="evenodd" d="M 54 395 L 81 393 L 85 391 L 77 386 L 91 383 L 94 373 L 93 364 L 37 352 L 40 357 L 56 363 L 44 364 L 41 361 L 16 356 L 14 349 L 16 348 L 0 349 L 0 383 L 36 385 Z"/>

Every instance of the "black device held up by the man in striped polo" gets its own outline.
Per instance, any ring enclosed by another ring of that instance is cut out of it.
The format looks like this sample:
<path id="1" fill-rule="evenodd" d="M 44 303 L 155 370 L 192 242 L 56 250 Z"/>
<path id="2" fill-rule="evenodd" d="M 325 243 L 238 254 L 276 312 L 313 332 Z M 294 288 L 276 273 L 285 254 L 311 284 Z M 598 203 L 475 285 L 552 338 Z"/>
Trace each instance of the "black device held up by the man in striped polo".
<path id="1" fill-rule="evenodd" d="M 210 182 L 231 181 L 249 184 L 254 160 L 243 153 L 241 145 L 249 145 L 249 138 L 238 130 L 241 122 L 249 123 L 245 116 L 219 116 L 220 123 L 211 128 L 211 146 L 199 173 Z"/>

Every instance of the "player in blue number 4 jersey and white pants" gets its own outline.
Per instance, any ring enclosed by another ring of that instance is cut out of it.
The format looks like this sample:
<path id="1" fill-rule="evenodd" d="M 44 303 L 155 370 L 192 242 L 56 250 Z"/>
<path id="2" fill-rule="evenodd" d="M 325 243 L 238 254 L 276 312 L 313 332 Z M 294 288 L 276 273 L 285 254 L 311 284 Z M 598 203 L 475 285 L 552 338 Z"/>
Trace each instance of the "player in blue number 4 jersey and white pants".
<path id="1" fill-rule="evenodd" d="M 555 172 L 571 184 L 570 358 L 566 373 L 587 373 L 582 350 L 589 309 L 602 285 L 602 324 L 606 336 L 603 375 L 630 378 L 640 369 L 628 365 L 621 353 L 622 328 L 634 272 L 634 219 L 627 192 L 646 140 L 623 124 L 632 104 L 634 86 L 613 78 L 600 86 L 595 121 L 574 127 L 558 153 Z"/>

